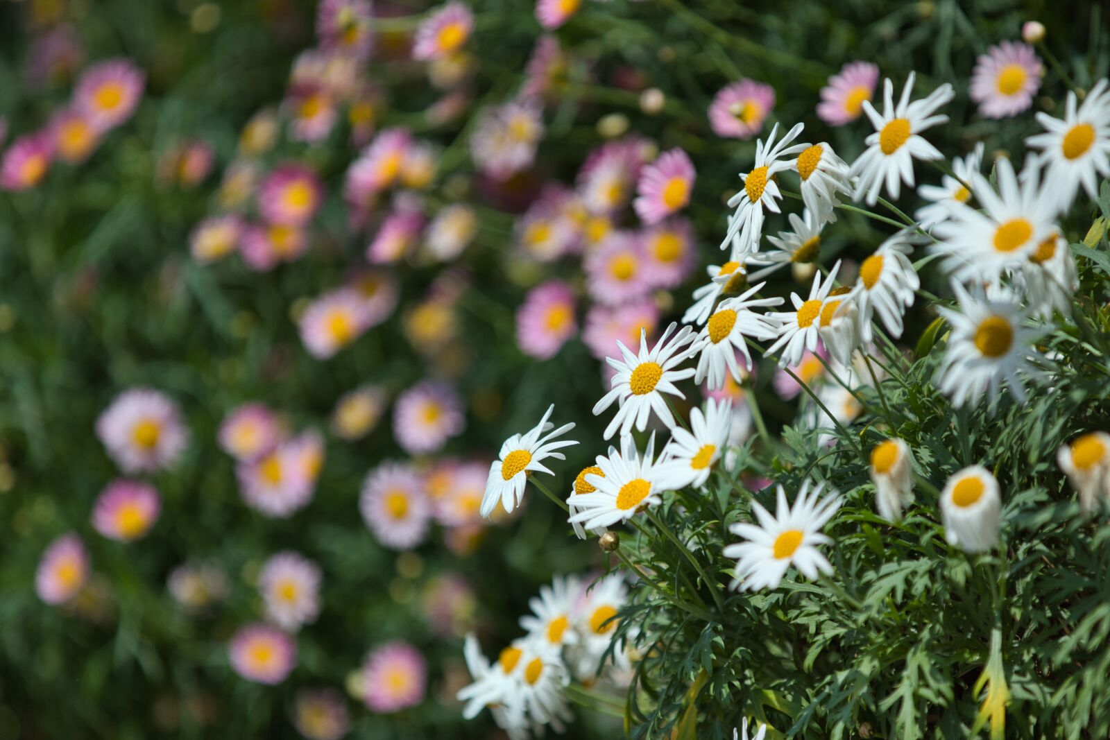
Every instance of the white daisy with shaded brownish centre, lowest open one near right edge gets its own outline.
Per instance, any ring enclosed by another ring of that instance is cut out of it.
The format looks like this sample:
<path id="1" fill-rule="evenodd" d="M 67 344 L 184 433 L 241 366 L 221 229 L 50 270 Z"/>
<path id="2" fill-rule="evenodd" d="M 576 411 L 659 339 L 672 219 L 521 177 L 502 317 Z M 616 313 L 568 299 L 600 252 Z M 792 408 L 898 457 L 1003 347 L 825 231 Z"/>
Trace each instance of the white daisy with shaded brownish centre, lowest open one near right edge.
<path id="1" fill-rule="evenodd" d="M 981 288 L 972 296 L 956 282 L 952 291 L 960 310 L 937 308 L 952 327 L 937 371 L 937 387 L 951 397 L 953 406 L 978 404 L 987 393 L 993 407 L 1002 383 L 1018 402 L 1025 402 L 1022 376 L 1041 375 L 1033 363 L 1043 357 L 1032 343 L 1043 330 L 1023 325 L 1029 310 L 1022 308 L 1016 296 L 988 297 Z"/>

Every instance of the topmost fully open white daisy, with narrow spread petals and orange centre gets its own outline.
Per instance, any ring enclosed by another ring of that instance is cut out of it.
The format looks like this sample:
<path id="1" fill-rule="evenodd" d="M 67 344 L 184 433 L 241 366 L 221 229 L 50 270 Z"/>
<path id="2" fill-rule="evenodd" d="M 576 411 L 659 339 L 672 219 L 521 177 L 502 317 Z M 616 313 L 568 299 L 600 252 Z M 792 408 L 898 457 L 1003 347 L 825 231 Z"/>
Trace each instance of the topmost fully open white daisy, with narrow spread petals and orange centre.
<path id="1" fill-rule="evenodd" d="M 894 83 L 888 78 L 882 87 L 882 114 L 870 101 L 864 101 L 864 112 L 875 126 L 866 139 L 868 149 L 852 163 L 849 178 L 859 178 L 854 197 L 867 196 L 867 204 L 875 205 L 886 183 L 887 193 L 898 197 L 901 183 L 914 185 L 914 160 L 939 160 L 944 155 L 927 142 L 921 132 L 948 121 L 947 115 L 936 115 L 941 105 L 952 99 L 952 85 L 947 82 L 927 98 L 910 102 L 915 74 L 909 73 L 898 105 L 894 104 Z"/>

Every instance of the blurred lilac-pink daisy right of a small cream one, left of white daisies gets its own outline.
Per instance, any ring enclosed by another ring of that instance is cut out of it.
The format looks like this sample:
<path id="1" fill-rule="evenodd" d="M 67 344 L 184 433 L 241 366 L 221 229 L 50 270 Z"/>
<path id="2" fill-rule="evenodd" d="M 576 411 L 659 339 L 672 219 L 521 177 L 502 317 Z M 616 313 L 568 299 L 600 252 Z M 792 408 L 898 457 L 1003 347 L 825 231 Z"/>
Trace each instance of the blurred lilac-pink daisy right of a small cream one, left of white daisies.
<path id="1" fill-rule="evenodd" d="M 402 393 L 393 406 L 393 436 L 410 455 L 435 453 L 465 427 L 463 405 L 443 383 L 418 383 Z"/>

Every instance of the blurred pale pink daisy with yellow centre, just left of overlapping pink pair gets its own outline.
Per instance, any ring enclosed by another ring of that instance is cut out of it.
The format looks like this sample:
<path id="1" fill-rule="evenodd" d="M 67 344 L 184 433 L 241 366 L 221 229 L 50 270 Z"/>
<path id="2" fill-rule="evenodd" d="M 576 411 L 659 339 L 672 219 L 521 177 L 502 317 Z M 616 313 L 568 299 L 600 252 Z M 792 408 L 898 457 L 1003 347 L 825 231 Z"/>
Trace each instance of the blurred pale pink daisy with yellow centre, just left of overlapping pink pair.
<path id="1" fill-rule="evenodd" d="M 377 541 L 394 550 L 411 550 L 427 535 L 432 506 L 412 466 L 382 463 L 362 484 L 359 510 Z"/>

